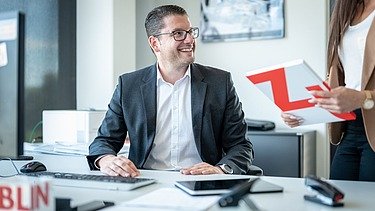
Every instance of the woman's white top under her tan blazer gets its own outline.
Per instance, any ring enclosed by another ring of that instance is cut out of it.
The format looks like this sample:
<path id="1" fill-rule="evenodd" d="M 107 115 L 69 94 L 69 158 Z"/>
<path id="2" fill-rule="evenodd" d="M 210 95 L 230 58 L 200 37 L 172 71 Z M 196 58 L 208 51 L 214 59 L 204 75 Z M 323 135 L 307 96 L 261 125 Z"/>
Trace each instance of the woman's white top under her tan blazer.
<path id="1" fill-rule="evenodd" d="M 339 46 L 339 58 L 345 71 L 345 84 L 347 88 L 361 90 L 366 37 L 374 15 L 375 10 L 362 22 L 354 26 L 349 26 Z"/>

